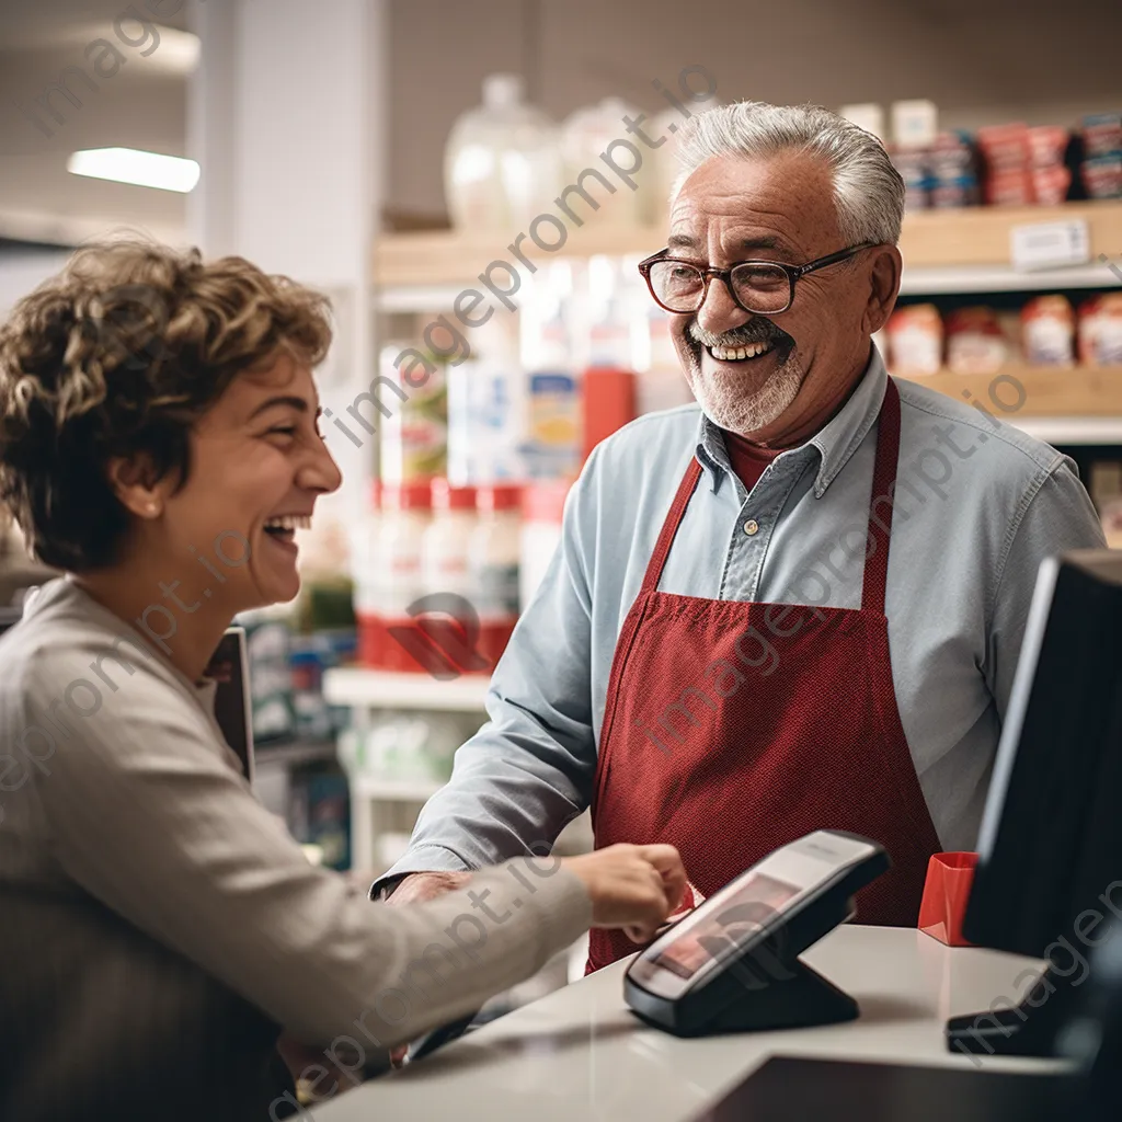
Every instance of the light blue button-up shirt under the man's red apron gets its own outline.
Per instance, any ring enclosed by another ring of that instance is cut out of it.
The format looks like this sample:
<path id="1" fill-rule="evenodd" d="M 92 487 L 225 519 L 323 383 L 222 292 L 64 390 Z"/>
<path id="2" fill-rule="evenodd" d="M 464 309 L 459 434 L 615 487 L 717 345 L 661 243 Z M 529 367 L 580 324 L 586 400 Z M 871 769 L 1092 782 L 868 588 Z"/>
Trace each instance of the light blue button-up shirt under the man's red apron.
<path id="1" fill-rule="evenodd" d="M 386 875 L 472 868 L 550 845 L 589 804 L 616 638 L 692 457 L 705 470 L 662 591 L 861 607 L 886 377 L 874 350 L 842 411 L 780 454 L 751 493 L 696 405 L 641 417 L 600 444 L 569 495 L 549 573 L 495 670 L 490 720 L 459 749 L 451 782 Z M 971 849 L 1037 569 L 1049 554 L 1101 546 L 1103 535 L 1070 459 L 973 405 L 898 385 L 885 605 L 892 679 L 942 846 Z M 1000 401 L 1015 397 L 1015 384 L 993 388 Z M 766 689 L 766 677 L 755 680 Z M 752 729 L 744 733 L 751 744 Z M 613 782 L 641 784 L 643 775 Z M 766 791 L 758 812 L 767 813 Z"/>

